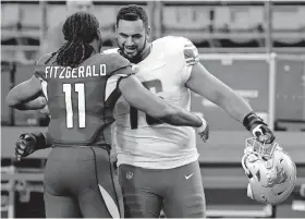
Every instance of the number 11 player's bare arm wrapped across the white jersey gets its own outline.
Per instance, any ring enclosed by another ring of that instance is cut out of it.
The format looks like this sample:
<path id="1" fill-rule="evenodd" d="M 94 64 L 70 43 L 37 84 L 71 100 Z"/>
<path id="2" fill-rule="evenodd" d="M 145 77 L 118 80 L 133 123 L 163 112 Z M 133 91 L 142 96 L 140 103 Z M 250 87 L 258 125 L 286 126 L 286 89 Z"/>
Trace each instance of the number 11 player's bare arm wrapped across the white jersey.
<path id="1" fill-rule="evenodd" d="M 203 119 L 175 107 L 157 95 L 147 90 L 136 76 L 131 75 L 121 80 L 119 88 L 126 101 L 145 113 L 172 125 L 199 127 Z M 206 124 L 205 124 L 206 125 Z"/>

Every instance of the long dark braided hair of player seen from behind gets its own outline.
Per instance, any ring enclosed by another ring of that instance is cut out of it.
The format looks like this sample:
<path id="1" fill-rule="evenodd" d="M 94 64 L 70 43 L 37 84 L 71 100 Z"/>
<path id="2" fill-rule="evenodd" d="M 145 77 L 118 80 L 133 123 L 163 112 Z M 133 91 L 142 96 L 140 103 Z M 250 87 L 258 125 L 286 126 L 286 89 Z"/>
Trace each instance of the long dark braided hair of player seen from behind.
<path id="1" fill-rule="evenodd" d="M 70 15 L 62 27 L 66 42 L 53 53 L 57 63 L 62 66 L 75 68 L 88 59 L 95 49 L 89 45 L 97 36 L 99 23 L 88 12 L 76 12 Z"/>

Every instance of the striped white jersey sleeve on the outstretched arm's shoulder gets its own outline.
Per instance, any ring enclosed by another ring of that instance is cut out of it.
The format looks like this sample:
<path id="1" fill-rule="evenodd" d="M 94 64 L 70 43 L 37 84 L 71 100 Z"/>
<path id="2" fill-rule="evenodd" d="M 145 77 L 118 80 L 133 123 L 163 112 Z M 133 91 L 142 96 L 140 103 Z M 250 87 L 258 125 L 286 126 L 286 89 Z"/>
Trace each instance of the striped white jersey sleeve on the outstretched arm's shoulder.
<path id="1" fill-rule="evenodd" d="M 198 50 L 194 44 L 184 37 L 180 38 L 181 53 L 183 54 L 184 71 L 182 76 L 183 82 L 187 82 L 191 76 L 193 66 L 199 62 Z"/>

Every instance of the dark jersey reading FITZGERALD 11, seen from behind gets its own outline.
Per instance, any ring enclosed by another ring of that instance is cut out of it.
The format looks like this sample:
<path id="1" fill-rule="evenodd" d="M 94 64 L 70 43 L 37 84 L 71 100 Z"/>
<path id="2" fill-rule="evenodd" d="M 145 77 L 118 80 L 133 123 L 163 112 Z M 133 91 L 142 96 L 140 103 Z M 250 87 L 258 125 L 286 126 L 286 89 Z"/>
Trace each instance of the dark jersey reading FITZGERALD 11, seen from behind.
<path id="1" fill-rule="evenodd" d="M 60 66 L 56 56 L 44 56 L 35 75 L 41 81 L 50 112 L 54 144 L 110 144 L 113 108 L 121 93 L 118 82 L 133 74 L 131 63 L 117 53 L 97 53 L 77 68 Z M 108 139 L 108 141 L 107 141 Z"/>

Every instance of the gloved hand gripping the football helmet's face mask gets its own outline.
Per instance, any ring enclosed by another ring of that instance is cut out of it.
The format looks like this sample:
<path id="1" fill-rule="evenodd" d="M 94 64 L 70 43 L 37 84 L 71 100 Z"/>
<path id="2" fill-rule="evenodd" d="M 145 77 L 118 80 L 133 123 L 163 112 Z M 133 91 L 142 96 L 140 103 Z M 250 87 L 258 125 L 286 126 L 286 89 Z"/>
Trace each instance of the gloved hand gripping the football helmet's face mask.
<path id="1" fill-rule="evenodd" d="M 251 126 L 251 133 L 254 137 L 256 137 L 260 143 L 264 144 L 272 144 L 276 139 L 274 134 L 267 124 L 253 124 Z"/>

